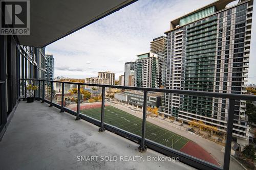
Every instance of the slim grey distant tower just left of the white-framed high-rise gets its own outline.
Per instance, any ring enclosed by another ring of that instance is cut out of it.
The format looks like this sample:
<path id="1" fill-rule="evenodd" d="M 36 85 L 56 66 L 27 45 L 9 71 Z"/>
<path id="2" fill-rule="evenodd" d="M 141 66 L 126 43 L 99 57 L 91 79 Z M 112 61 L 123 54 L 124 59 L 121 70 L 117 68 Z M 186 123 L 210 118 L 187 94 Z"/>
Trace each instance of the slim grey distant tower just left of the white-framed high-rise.
<path id="1" fill-rule="evenodd" d="M 124 63 L 124 86 L 134 86 L 134 62 Z"/>

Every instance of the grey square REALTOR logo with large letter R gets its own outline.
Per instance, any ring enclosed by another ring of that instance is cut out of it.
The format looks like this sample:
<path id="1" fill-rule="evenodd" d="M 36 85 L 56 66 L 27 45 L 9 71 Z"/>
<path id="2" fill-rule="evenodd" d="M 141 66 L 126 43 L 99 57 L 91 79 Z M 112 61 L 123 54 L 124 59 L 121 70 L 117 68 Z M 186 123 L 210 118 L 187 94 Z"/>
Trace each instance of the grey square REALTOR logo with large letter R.
<path id="1" fill-rule="evenodd" d="M 29 0 L 1 0 L 0 34 L 30 35 Z"/>

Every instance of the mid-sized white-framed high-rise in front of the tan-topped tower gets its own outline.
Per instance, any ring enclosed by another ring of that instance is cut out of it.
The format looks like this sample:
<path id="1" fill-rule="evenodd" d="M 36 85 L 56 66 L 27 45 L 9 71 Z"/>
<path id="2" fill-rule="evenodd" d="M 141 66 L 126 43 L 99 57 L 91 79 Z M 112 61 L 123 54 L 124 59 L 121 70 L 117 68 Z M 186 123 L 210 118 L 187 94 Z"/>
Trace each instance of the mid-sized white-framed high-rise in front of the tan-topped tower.
<path id="1" fill-rule="evenodd" d="M 157 54 L 145 53 L 137 56 L 135 61 L 134 86 L 158 87 L 158 58 Z"/>

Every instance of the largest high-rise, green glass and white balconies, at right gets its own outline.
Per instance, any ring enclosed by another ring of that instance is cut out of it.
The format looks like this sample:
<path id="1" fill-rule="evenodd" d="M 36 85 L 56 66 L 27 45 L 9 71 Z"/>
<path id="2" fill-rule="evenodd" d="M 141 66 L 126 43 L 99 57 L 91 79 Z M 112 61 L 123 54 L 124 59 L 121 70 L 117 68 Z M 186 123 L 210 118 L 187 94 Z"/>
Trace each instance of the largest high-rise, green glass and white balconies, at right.
<path id="1" fill-rule="evenodd" d="M 253 1 L 209 4 L 170 22 L 165 88 L 245 93 L 248 77 Z M 236 101 L 233 136 L 248 143 L 246 101 Z M 179 120 L 200 120 L 226 132 L 228 99 L 170 94 L 162 111 Z"/>

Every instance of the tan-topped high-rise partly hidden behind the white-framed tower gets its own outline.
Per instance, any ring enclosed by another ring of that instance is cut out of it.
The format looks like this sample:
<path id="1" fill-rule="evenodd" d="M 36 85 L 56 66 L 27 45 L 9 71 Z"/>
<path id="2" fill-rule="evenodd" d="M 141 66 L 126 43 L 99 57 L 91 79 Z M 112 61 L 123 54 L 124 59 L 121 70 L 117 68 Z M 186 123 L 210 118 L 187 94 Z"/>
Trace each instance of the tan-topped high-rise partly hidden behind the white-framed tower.
<path id="1" fill-rule="evenodd" d="M 167 39 L 165 36 L 154 38 L 150 42 L 150 52 L 158 56 L 158 87 L 165 86 L 166 76 L 166 52 L 167 52 Z"/>

